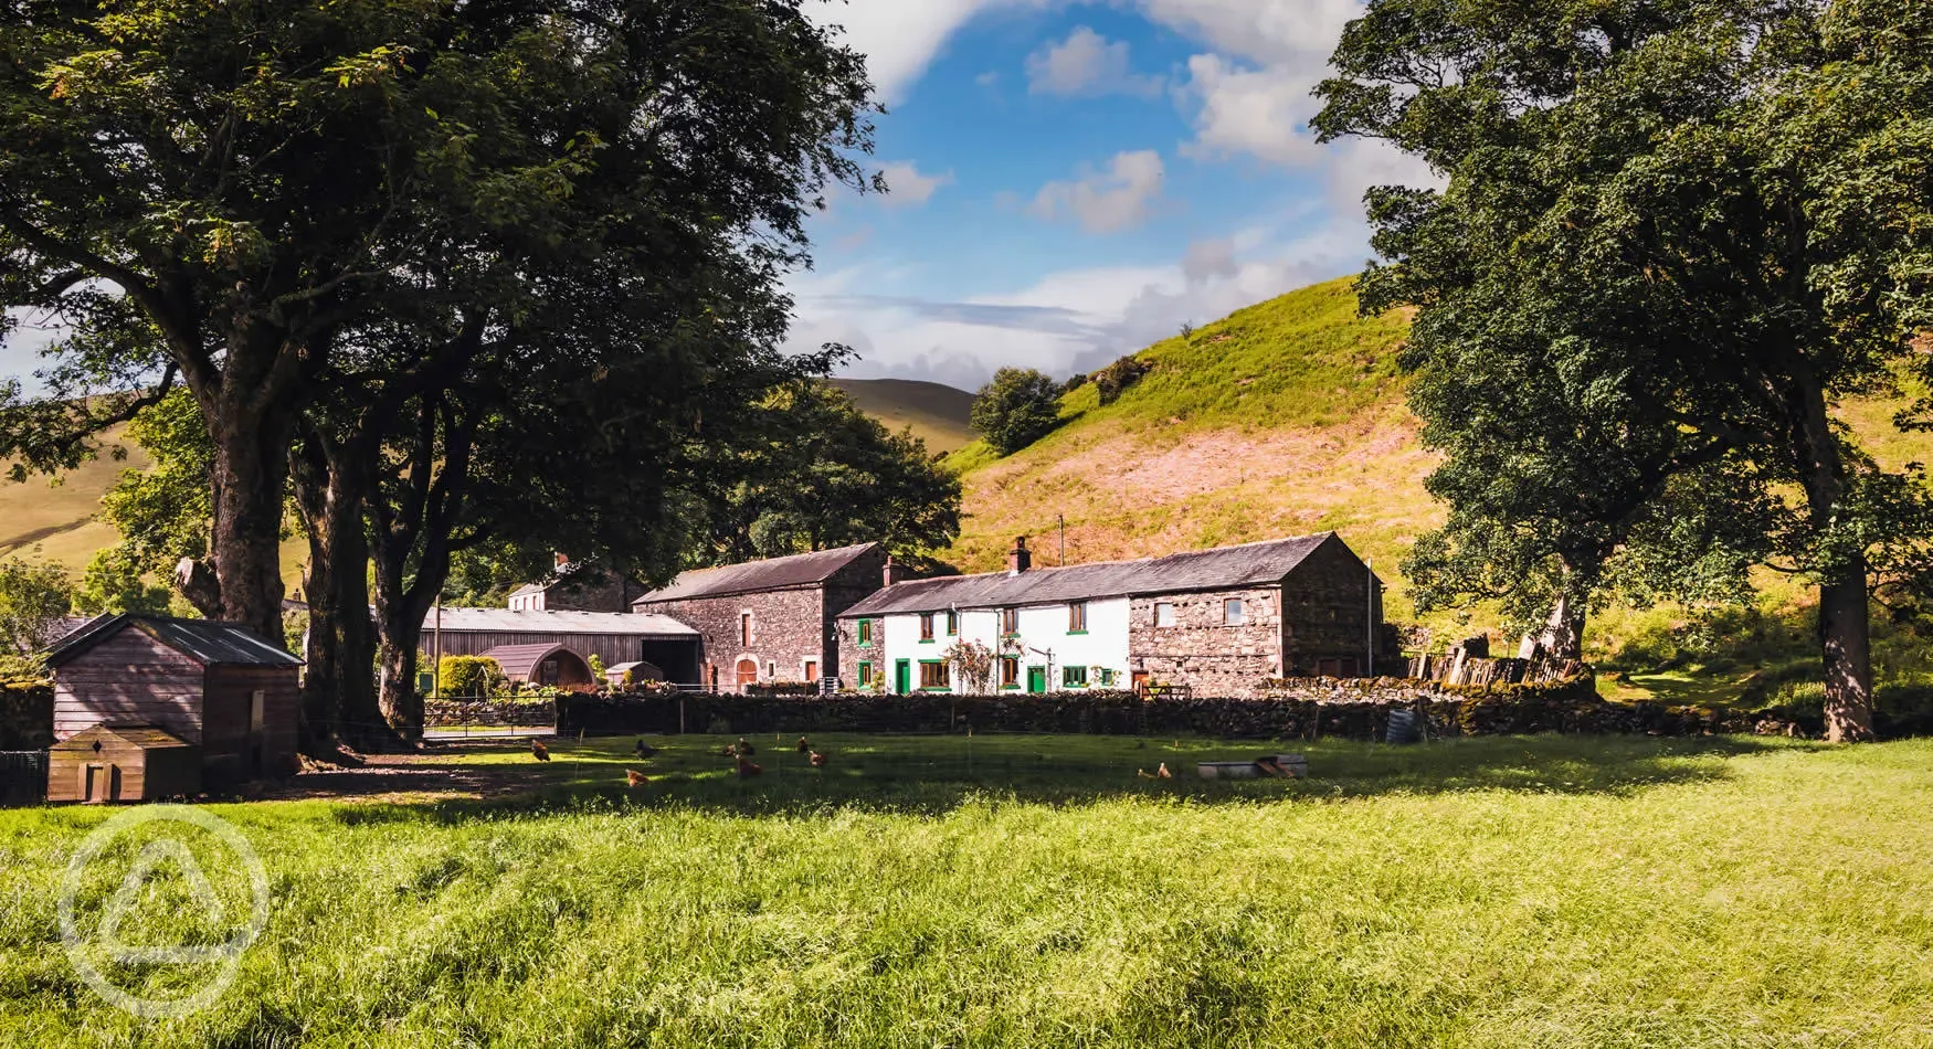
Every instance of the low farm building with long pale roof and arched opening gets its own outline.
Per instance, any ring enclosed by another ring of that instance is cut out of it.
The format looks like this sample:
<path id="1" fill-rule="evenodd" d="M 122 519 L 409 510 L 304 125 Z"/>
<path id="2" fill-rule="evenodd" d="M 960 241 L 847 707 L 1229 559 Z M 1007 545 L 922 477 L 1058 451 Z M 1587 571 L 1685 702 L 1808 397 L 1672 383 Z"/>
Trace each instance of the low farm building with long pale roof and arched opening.
<path id="1" fill-rule="evenodd" d="M 532 647 L 535 645 L 535 647 Z M 499 655 L 505 649 L 518 649 Z M 590 659 L 605 666 L 649 663 L 665 680 L 698 684 L 700 638 L 690 626 L 657 614 L 634 612 L 528 612 L 514 609 L 431 609 L 423 618 L 423 651 L 439 655 L 487 655 L 512 680 L 534 684 L 590 684 Z M 505 659 L 539 653 L 516 678 Z M 545 670 L 549 663 L 549 670 Z M 559 680 L 543 680 L 545 674 Z M 564 680 L 568 678 L 568 680 Z"/>

